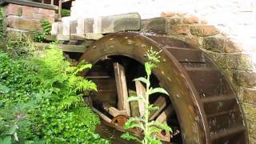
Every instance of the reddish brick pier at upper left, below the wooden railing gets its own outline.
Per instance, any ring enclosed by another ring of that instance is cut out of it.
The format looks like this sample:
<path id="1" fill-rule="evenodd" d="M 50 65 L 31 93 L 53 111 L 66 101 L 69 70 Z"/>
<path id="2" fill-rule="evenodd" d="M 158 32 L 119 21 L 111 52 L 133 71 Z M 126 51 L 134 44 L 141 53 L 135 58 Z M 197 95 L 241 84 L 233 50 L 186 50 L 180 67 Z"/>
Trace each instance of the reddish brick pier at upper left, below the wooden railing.
<path id="1" fill-rule="evenodd" d="M 34 6 L 8 3 L 4 6 L 8 27 L 14 30 L 42 30 L 41 20 L 54 22 L 55 11 Z"/>

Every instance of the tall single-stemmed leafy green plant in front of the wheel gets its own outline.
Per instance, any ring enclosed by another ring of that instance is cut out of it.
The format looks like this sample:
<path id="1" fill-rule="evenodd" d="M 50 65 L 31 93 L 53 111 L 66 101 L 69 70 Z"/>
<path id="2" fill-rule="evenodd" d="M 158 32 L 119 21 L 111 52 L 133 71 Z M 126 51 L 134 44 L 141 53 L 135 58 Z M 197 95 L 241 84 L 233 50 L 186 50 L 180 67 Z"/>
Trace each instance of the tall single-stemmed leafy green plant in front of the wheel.
<path id="1" fill-rule="evenodd" d="M 138 101 L 138 102 L 143 102 L 144 103 L 144 114 L 142 118 L 129 118 L 129 120 L 126 122 L 124 128 L 125 129 L 133 129 L 133 128 L 138 128 L 143 131 L 144 138 L 141 140 L 134 135 L 131 135 L 129 133 L 122 134 L 121 138 L 125 138 L 127 140 L 134 140 L 138 141 L 141 143 L 161 143 L 160 140 L 155 136 L 162 130 L 166 131 L 172 131 L 170 127 L 166 124 L 166 122 L 155 122 L 155 121 L 149 121 L 149 116 L 150 116 L 150 110 L 158 110 L 157 106 L 151 105 L 149 102 L 149 98 L 151 94 L 155 93 L 162 93 L 162 94 L 167 94 L 169 95 L 166 90 L 162 89 L 161 87 L 153 88 L 150 86 L 150 76 L 152 74 L 152 70 L 157 67 L 157 64 L 159 61 L 159 56 L 158 54 L 160 53 L 152 50 L 152 47 L 148 52 L 146 53 L 148 61 L 145 62 L 145 70 L 146 70 L 146 78 L 135 78 L 134 81 L 140 81 L 144 84 L 146 84 L 146 94 L 145 97 L 138 97 L 138 96 L 132 96 L 127 98 L 127 102 L 133 102 L 133 101 Z"/>

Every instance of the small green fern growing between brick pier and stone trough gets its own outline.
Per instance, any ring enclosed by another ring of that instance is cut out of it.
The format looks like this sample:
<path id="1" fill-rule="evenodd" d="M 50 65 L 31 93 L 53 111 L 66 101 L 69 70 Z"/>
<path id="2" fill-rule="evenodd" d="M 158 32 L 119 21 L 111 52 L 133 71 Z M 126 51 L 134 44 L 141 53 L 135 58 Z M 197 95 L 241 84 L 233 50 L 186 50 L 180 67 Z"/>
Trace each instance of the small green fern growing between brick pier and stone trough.
<path id="1" fill-rule="evenodd" d="M 51 23 L 47 19 L 42 19 L 41 21 L 42 25 L 42 32 L 35 32 L 34 37 L 37 42 L 42 42 L 46 39 L 46 35 L 50 34 L 51 30 Z"/>

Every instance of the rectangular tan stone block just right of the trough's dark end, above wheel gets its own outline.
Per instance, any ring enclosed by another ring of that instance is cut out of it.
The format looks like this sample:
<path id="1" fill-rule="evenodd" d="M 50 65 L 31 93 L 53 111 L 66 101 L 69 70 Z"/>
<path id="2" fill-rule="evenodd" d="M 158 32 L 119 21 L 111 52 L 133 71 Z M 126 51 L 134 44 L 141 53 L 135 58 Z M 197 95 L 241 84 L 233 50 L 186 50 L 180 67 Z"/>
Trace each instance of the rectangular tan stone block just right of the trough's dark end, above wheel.
<path id="1" fill-rule="evenodd" d="M 190 34 L 190 26 L 188 26 L 188 25 L 170 25 L 167 27 L 167 34 L 189 35 Z"/>

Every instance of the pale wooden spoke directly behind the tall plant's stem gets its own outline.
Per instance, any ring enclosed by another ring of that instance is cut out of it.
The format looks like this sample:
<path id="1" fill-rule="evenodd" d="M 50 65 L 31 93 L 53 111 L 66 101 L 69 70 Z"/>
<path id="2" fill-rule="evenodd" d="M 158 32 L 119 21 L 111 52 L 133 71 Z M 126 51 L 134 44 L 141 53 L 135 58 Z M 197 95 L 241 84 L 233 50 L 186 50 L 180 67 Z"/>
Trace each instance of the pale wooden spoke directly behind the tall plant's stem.
<path id="1" fill-rule="evenodd" d="M 145 98 L 146 89 L 142 85 L 142 82 L 135 81 L 135 87 L 136 87 L 137 96 L 140 98 Z M 139 110 L 140 116 L 142 117 L 144 115 L 144 111 L 145 111 L 145 106 L 144 106 L 143 102 L 138 102 L 138 110 Z"/>

